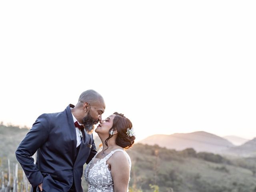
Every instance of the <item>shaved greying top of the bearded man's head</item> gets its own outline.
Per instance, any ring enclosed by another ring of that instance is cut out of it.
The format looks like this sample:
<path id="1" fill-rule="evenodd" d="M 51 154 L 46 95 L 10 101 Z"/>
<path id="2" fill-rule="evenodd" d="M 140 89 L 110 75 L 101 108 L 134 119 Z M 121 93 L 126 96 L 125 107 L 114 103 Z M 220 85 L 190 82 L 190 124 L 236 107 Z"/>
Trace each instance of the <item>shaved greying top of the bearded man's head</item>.
<path id="1" fill-rule="evenodd" d="M 76 104 L 77 107 L 83 106 L 84 102 L 87 102 L 91 105 L 94 105 L 96 103 L 102 104 L 105 106 L 105 102 L 103 97 L 96 91 L 90 89 L 82 92 L 78 99 L 78 103 Z"/>

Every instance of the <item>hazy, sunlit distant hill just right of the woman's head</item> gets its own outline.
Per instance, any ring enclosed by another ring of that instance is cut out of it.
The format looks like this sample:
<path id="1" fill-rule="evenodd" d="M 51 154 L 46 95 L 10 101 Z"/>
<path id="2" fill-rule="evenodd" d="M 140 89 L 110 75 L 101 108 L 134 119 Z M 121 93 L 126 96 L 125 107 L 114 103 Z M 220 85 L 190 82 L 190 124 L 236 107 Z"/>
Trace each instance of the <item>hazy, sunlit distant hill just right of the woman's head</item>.
<path id="1" fill-rule="evenodd" d="M 221 153 L 234 147 L 228 140 L 208 132 L 175 133 L 172 135 L 152 135 L 140 141 L 142 144 L 154 145 L 168 149 L 184 150 L 194 148 L 196 151 Z"/>

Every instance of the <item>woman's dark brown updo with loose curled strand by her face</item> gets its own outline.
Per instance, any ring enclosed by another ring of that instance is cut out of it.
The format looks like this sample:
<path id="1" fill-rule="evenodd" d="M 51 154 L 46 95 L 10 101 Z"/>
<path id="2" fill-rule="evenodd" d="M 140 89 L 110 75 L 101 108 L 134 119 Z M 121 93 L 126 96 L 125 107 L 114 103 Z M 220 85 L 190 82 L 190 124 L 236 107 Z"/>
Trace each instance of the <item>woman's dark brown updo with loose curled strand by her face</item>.
<path id="1" fill-rule="evenodd" d="M 113 126 L 110 128 L 109 132 L 117 131 L 116 144 L 122 148 L 130 148 L 134 144 L 135 136 L 128 136 L 127 129 L 132 128 L 132 122 L 126 118 L 123 114 L 114 112 L 116 115 L 113 119 Z M 107 145 L 108 140 L 112 137 L 109 133 L 109 137 L 106 139 L 105 144 Z M 108 146 L 108 145 L 107 145 Z"/>

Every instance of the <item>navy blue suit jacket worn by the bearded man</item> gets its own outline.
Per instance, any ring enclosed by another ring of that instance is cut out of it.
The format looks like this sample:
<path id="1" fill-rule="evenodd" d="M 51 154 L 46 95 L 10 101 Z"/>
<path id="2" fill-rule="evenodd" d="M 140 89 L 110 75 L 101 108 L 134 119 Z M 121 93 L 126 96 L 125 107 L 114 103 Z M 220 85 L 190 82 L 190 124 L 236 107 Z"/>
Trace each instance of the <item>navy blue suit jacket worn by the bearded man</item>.
<path id="1" fill-rule="evenodd" d="M 92 134 L 85 131 L 76 153 L 76 128 L 70 107 L 58 113 L 42 114 L 26 134 L 16 150 L 33 191 L 38 184 L 46 192 L 67 192 L 73 184 L 76 192 L 82 192 L 83 165 L 96 154 Z M 31 157 L 37 151 L 36 164 Z"/>

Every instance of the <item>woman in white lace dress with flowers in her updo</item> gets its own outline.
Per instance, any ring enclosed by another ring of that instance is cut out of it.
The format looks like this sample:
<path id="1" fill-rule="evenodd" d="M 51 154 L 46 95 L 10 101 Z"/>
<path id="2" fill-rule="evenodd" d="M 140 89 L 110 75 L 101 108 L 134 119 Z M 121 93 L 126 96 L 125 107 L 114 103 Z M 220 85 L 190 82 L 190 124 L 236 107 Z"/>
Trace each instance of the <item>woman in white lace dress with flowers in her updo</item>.
<path id="1" fill-rule="evenodd" d="M 84 170 L 88 192 L 127 192 L 131 160 L 124 148 L 134 144 L 132 122 L 115 112 L 95 129 L 102 146 Z"/>

